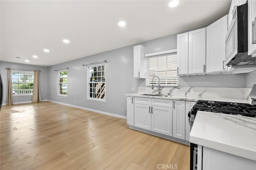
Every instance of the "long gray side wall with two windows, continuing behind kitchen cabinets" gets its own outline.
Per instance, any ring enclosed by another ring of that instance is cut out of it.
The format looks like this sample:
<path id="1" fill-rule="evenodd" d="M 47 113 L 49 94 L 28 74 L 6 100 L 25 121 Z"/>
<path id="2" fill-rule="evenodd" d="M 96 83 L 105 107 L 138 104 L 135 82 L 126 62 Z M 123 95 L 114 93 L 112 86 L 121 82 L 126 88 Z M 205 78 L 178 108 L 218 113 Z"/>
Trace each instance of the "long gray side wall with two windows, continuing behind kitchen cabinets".
<path id="1" fill-rule="evenodd" d="M 139 44 L 146 47 L 146 53 L 154 53 L 176 49 L 176 41 L 176 35 L 169 35 Z M 133 78 L 133 46 L 49 66 L 49 99 L 126 116 L 125 94 L 134 93 L 132 87 L 135 87 L 136 92 L 137 86 L 145 86 L 145 79 Z M 104 60 L 108 61 L 106 64 L 106 102 L 87 100 L 87 67 L 82 64 Z M 58 72 L 54 70 L 66 67 L 70 68 L 68 70 L 68 96 L 58 96 Z M 180 78 L 180 86 L 245 87 L 245 80 L 245 74 L 184 76 Z"/>

